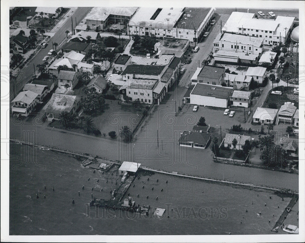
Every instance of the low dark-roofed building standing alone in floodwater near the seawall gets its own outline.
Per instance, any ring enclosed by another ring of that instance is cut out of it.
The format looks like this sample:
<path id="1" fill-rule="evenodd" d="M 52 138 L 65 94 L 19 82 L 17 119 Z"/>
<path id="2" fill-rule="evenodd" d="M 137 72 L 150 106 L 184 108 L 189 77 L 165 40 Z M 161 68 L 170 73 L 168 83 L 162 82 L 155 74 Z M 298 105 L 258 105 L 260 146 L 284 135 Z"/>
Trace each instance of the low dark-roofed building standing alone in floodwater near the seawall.
<path id="1" fill-rule="evenodd" d="M 184 131 L 181 133 L 181 137 L 178 140 L 179 146 L 190 147 L 190 148 L 206 148 L 211 135 L 204 132 L 191 132 Z"/>

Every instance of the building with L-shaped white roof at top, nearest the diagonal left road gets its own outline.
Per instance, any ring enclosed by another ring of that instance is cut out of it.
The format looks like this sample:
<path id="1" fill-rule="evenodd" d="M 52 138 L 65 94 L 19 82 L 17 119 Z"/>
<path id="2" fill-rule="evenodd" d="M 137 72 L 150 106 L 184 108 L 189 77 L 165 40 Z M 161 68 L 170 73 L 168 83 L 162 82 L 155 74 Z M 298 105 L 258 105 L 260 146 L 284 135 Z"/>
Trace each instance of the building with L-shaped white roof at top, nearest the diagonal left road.
<path id="1" fill-rule="evenodd" d="M 106 30 L 111 24 L 126 24 L 135 14 L 137 7 L 94 7 L 85 17 L 92 30 Z"/>

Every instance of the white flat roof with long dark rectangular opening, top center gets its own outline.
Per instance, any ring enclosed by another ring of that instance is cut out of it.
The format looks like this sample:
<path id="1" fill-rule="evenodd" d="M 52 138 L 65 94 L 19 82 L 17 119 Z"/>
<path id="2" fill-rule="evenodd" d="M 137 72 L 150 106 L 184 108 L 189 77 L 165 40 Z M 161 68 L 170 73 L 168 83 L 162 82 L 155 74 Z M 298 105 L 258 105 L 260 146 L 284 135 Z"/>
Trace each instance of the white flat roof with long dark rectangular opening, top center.
<path id="1" fill-rule="evenodd" d="M 183 13 L 182 7 L 141 7 L 129 21 L 131 26 L 172 29 Z"/>

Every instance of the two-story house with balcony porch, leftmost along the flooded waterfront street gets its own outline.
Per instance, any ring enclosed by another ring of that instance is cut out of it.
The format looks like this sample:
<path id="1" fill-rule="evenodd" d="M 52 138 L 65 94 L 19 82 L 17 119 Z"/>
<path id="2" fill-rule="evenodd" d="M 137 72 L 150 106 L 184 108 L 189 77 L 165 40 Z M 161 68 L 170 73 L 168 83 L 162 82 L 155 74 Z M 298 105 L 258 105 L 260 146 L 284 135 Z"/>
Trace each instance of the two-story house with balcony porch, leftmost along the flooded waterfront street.
<path id="1" fill-rule="evenodd" d="M 37 96 L 30 90 L 20 92 L 12 101 L 13 115 L 28 116 L 38 104 Z"/>

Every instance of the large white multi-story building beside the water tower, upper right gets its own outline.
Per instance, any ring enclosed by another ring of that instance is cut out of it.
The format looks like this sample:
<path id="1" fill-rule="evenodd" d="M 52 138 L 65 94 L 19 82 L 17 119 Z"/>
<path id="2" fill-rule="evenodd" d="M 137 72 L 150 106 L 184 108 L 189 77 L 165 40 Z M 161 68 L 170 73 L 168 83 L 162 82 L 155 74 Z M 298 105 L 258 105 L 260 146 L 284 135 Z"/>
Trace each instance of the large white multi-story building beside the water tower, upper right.
<path id="1" fill-rule="evenodd" d="M 254 13 L 233 12 L 222 31 L 264 38 L 264 45 L 285 42 L 294 17 L 277 16 L 275 19 L 262 19 L 254 16 Z"/>

